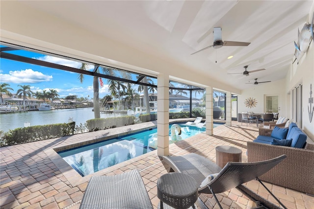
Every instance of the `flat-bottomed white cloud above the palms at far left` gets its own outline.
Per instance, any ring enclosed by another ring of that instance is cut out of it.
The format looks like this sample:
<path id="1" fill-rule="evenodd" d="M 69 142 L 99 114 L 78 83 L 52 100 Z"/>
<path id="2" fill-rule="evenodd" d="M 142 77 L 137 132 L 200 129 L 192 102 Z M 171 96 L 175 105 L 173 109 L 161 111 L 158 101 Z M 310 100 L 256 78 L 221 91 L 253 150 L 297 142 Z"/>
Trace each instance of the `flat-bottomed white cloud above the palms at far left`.
<path id="1" fill-rule="evenodd" d="M 10 71 L 9 74 L 0 74 L 1 82 L 8 83 L 39 83 L 52 81 L 52 76 L 44 75 L 41 72 L 26 69 L 21 71 Z"/>

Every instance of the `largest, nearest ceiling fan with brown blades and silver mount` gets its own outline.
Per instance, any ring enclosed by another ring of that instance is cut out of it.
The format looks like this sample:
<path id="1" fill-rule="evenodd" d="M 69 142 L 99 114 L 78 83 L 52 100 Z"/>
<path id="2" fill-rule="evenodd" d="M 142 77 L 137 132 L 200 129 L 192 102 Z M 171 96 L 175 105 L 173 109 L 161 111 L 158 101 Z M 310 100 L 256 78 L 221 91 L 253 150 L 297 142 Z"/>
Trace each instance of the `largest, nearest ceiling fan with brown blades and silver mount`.
<path id="1" fill-rule="evenodd" d="M 204 49 L 201 49 L 197 52 L 202 52 L 203 50 L 207 50 L 208 48 L 212 47 L 214 49 L 219 49 L 223 46 L 230 46 L 230 47 L 246 47 L 249 46 L 249 42 L 237 42 L 237 41 L 222 41 L 221 38 L 221 27 L 214 27 L 213 30 L 213 34 L 214 34 L 214 42 L 212 45 L 210 45 L 209 47 L 205 47 Z M 191 53 L 195 54 L 197 52 Z"/>

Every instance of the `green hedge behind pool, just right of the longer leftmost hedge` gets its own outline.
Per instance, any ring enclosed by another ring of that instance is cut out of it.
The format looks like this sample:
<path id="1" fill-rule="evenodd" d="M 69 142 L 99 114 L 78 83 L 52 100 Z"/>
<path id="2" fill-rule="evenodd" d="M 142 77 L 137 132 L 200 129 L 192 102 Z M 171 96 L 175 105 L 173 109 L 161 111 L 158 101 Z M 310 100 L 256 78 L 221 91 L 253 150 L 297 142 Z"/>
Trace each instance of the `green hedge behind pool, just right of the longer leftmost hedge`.
<path id="1" fill-rule="evenodd" d="M 134 116 L 96 118 L 86 121 L 88 131 L 98 131 L 134 124 Z"/>

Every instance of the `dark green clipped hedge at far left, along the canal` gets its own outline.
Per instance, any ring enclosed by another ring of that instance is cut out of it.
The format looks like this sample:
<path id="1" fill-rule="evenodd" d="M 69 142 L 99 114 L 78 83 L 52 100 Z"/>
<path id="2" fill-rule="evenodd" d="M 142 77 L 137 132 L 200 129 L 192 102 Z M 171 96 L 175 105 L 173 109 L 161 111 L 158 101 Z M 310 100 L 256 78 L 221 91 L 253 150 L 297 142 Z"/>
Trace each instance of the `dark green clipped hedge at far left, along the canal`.
<path id="1" fill-rule="evenodd" d="M 43 126 L 30 126 L 17 128 L 5 132 L 0 140 L 0 146 L 20 144 L 30 141 L 50 139 L 59 136 L 74 134 L 75 122 L 51 124 Z"/>

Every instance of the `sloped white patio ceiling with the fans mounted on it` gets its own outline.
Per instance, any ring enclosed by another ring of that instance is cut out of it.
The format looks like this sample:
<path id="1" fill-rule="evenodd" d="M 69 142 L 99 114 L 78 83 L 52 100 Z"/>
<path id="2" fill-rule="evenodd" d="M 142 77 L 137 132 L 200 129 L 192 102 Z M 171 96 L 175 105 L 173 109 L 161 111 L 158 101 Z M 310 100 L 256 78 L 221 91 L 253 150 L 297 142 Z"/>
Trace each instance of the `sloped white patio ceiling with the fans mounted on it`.
<path id="1" fill-rule="evenodd" d="M 171 59 L 235 86 L 285 78 L 294 60 L 298 27 L 309 20 L 313 0 L 149 0 L 25 1 L 27 5 L 162 59 Z M 312 17 L 311 17 L 312 18 Z M 247 47 L 203 49 L 213 42 L 213 27 L 223 41 Z M 232 59 L 227 59 L 233 55 Z M 217 63 L 216 63 L 217 61 Z M 265 68 L 246 77 L 241 74 Z M 264 85 L 264 84 L 259 84 Z"/>

